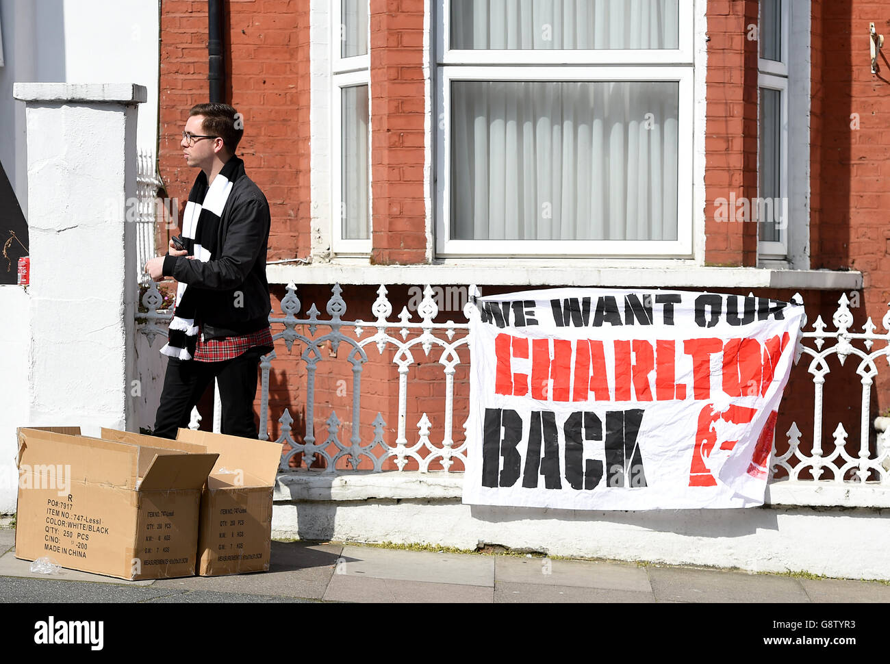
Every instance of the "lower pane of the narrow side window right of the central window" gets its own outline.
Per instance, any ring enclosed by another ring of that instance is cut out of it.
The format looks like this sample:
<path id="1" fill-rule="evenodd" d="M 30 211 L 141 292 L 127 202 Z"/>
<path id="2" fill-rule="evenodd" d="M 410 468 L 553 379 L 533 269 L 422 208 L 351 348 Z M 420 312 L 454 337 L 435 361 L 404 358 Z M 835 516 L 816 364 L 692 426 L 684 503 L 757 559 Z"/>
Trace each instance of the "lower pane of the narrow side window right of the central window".
<path id="1" fill-rule="evenodd" d="M 760 239 L 781 242 L 788 204 L 781 198 L 781 91 L 760 88 Z M 752 211 L 753 214 L 753 211 Z"/>

